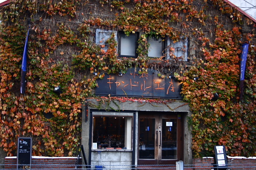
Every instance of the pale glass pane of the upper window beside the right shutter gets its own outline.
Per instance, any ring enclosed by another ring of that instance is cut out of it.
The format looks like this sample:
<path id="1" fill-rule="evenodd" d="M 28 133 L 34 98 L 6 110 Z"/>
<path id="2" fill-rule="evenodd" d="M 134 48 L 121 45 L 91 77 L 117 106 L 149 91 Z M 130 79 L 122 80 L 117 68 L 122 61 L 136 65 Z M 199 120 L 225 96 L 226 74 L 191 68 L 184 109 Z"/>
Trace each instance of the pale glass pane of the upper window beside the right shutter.
<path id="1" fill-rule="evenodd" d="M 149 57 L 160 57 L 162 56 L 163 43 L 161 39 L 155 40 L 154 38 L 149 38 L 148 43 L 150 44 L 148 50 Z"/>

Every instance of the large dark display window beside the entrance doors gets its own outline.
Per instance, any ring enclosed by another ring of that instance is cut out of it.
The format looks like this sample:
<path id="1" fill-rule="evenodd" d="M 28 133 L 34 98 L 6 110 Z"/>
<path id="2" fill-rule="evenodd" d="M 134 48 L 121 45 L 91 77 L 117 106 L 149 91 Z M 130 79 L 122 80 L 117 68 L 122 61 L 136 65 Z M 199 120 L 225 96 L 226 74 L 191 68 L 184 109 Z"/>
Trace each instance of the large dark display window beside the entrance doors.
<path id="1" fill-rule="evenodd" d="M 93 144 L 98 149 L 131 150 L 133 117 L 93 115 Z"/>

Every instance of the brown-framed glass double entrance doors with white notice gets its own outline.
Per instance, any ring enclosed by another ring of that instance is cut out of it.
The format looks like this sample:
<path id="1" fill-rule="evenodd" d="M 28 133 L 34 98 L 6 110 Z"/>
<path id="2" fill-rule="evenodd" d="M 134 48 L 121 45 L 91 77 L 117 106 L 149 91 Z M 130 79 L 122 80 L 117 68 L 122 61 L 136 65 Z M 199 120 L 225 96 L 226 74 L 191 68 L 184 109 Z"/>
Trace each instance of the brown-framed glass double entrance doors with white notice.
<path id="1" fill-rule="evenodd" d="M 180 115 L 141 114 L 138 164 L 171 165 L 183 160 L 181 127 Z"/>

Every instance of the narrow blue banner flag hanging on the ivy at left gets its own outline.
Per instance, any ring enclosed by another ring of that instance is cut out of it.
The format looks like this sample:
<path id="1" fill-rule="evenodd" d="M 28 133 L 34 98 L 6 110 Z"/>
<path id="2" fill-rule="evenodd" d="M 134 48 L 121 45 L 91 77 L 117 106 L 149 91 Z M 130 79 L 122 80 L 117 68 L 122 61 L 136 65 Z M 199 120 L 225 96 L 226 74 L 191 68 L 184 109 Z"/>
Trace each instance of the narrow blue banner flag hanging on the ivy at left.
<path id="1" fill-rule="evenodd" d="M 27 38 L 25 41 L 24 51 L 23 51 L 23 58 L 22 58 L 22 65 L 21 65 L 21 80 L 20 80 L 20 93 L 25 94 L 25 87 L 26 87 L 26 74 L 27 74 L 27 52 L 28 52 L 28 35 L 30 34 L 30 29 L 28 29 Z"/>

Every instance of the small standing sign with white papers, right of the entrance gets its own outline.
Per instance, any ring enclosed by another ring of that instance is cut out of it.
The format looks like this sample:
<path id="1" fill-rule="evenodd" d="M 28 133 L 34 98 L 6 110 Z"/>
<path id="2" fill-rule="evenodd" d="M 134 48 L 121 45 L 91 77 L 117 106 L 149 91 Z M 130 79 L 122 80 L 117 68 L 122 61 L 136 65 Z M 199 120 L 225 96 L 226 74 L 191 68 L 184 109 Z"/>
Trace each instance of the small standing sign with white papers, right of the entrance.
<path id="1" fill-rule="evenodd" d="M 228 161 L 226 160 L 225 146 L 214 146 L 215 151 L 215 166 L 217 169 L 228 168 Z"/>

